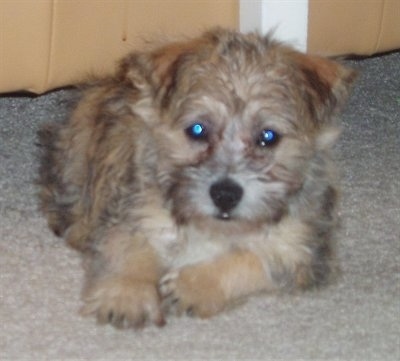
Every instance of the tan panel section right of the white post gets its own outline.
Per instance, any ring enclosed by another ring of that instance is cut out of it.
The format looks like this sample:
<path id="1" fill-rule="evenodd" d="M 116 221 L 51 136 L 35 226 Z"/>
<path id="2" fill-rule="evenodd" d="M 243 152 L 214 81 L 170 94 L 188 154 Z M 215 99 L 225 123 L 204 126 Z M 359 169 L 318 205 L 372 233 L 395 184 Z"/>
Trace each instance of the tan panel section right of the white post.
<path id="1" fill-rule="evenodd" d="M 399 0 L 309 0 L 308 51 L 371 55 L 400 47 Z"/>

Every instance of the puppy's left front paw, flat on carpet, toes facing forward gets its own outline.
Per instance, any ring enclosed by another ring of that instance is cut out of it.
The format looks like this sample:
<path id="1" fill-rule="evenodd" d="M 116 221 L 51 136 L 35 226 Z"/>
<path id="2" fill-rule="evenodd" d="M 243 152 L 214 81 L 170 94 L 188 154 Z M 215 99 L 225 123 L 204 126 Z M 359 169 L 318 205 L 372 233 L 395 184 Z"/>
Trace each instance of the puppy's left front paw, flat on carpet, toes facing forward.
<path id="1" fill-rule="evenodd" d="M 95 315 L 102 324 L 117 328 L 165 324 L 157 288 L 150 282 L 123 277 L 98 281 L 87 289 L 84 302 L 81 313 Z"/>

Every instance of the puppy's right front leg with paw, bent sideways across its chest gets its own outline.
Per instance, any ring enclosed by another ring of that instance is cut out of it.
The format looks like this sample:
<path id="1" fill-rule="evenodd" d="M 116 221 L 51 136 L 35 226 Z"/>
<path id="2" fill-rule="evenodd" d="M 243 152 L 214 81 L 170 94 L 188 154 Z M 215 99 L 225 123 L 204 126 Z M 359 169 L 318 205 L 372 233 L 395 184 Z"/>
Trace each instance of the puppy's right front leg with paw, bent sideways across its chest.
<path id="1" fill-rule="evenodd" d="M 167 273 L 160 282 L 163 306 L 178 314 L 211 317 L 252 293 L 268 289 L 260 259 L 250 251 L 235 251 L 213 262 Z"/>

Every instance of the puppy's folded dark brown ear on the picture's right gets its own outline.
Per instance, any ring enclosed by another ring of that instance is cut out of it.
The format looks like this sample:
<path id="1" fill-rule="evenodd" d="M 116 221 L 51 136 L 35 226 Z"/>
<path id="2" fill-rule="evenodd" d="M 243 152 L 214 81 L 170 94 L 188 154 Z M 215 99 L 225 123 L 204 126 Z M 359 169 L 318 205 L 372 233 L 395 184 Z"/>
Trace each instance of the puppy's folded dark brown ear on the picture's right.
<path id="1" fill-rule="evenodd" d="M 319 56 L 292 52 L 290 57 L 300 69 L 299 82 L 311 116 L 326 123 L 347 100 L 356 72 Z"/>

